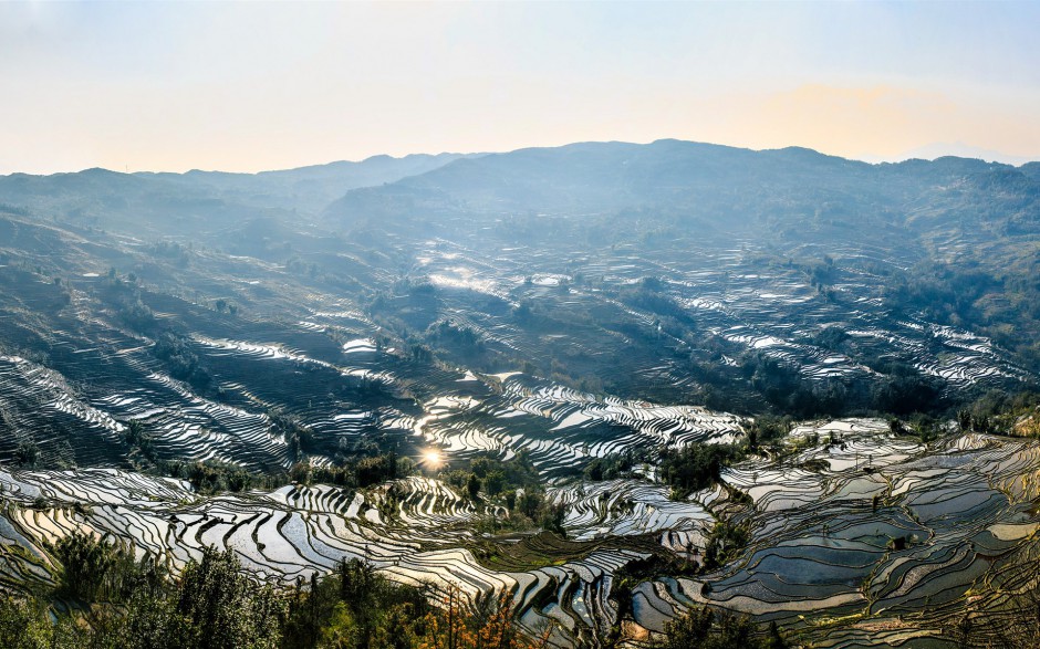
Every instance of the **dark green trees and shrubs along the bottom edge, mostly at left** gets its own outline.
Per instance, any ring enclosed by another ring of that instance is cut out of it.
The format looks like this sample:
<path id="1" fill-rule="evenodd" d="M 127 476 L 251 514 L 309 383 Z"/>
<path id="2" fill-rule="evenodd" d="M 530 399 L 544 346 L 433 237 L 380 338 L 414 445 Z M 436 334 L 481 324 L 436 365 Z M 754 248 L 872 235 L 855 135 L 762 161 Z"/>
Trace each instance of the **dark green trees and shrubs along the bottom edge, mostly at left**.
<path id="1" fill-rule="evenodd" d="M 509 593 L 471 601 L 453 588 L 389 582 L 358 559 L 275 589 L 214 548 L 176 577 L 150 556 L 136 559 L 85 534 L 49 551 L 61 566 L 53 588 L 0 594 L 6 649 L 540 649 L 552 631 L 521 629 Z M 774 627 L 762 635 L 747 618 L 706 609 L 676 618 L 655 646 L 738 639 L 752 649 L 787 647 Z"/>

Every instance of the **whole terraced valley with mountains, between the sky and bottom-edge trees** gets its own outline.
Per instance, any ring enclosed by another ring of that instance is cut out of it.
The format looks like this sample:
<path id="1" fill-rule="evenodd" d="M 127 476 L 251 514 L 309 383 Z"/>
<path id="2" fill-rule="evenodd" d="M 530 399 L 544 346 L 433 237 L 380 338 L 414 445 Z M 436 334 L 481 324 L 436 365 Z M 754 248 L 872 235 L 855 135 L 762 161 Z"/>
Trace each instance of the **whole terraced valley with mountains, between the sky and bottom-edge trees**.
<path id="1" fill-rule="evenodd" d="M 1008 270 L 1034 165 L 675 140 L 354 165 L 0 178 L 6 590 L 85 531 L 173 574 L 211 546 L 280 587 L 361 558 L 505 593 L 561 647 L 695 605 L 812 647 L 1020 622 L 1040 446 L 996 405 L 1040 370 Z M 661 459 L 699 444 L 741 451 L 685 493 Z"/>

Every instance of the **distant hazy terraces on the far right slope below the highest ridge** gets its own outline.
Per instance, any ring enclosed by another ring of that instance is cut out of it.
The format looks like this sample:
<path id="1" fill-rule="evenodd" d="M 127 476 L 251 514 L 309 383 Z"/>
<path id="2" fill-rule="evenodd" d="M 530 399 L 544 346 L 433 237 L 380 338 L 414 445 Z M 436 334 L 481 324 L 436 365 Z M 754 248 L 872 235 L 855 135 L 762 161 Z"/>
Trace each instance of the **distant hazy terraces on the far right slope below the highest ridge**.
<path id="1" fill-rule="evenodd" d="M 864 271 L 862 263 L 897 265 L 893 255 L 899 251 L 881 251 L 865 244 L 831 244 L 822 249 L 807 243 L 801 254 L 830 254 L 847 260 L 846 264 L 838 264 L 842 278 L 832 286 L 835 296 L 825 299 L 798 270 L 757 261 L 752 240 L 737 241 L 736 247 L 730 241 L 731 248 L 722 250 L 705 242 L 685 243 L 689 245 L 675 252 L 655 252 L 653 260 L 635 247 L 618 247 L 595 258 L 578 251 L 561 253 L 560 257 L 572 260 L 569 274 L 552 275 L 544 273 L 554 265 L 551 254 L 513 248 L 493 258 L 481 257 L 477 245 L 461 248 L 440 240 L 422 249 L 419 272 L 439 278 L 443 286 L 454 290 L 444 291 L 444 300 L 446 311 L 459 324 L 480 332 L 488 344 L 532 355 L 547 341 L 530 337 L 514 323 L 488 311 L 475 312 L 467 306 L 475 300 L 474 294 L 510 304 L 524 299 L 553 302 L 557 308 L 584 311 L 600 321 L 626 317 L 653 331 L 658 320 L 655 314 L 606 300 L 595 286 L 625 286 L 643 278 L 657 278 L 663 282 L 663 294 L 682 305 L 697 322 L 698 329 L 760 350 L 811 380 L 870 380 L 873 375 L 870 368 L 812 341 L 814 333 L 830 325 L 842 326 L 863 350 L 896 353 L 913 359 L 921 371 L 940 378 L 950 390 L 976 384 L 998 386 L 1029 376 L 985 337 L 924 320 L 893 318 L 875 297 L 884 278 Z M 532 268 L 542 272 L 532 274 Z M 594 279 L 595 284 L 575 278 Z M 624 342 L 599 339 L 595 348 L 579 349 L 592 357 L 625 354 L 614 348 L 616 343 Z M 690 349 L 684 341 L 675 339 L 672 344 Z M 663 400 L 678 401 L 683 390 L 695 385 L 689 373 L 674 360 L 630 353 L 625 366 L 633 364 L 637 365 L 632 371 L 634 378 L 638 377 L 639 385 L 654 386 Z"/>

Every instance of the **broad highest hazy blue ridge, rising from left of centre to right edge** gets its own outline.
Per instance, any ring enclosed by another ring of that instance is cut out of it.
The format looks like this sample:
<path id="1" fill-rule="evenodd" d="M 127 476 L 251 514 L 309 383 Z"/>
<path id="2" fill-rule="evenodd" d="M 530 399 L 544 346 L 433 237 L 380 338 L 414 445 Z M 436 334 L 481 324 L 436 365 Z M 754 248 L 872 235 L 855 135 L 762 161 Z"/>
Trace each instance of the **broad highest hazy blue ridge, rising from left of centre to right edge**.
<path id="1" fill-rule="evenodd" d="M 804 234 L 831 224 L 867 228 L 873 237 L 878 226 L 935 228 L 950 220 L 1033 231 L 1040 224 L 1038 197 L 1040 163 L 1016 168 L 944 157 L 870 165 L 798 147 L 753 151 L 659 140 L 459 159 L 347 191 L 324 217 L 337 227 L 415 218 L 436 227 L 439 217 L 459 214 L 587 218 L 635 211 L 644 227 L 655 220 L 721 231 L 768 224 L 770 232 L 794 228 Z"/>

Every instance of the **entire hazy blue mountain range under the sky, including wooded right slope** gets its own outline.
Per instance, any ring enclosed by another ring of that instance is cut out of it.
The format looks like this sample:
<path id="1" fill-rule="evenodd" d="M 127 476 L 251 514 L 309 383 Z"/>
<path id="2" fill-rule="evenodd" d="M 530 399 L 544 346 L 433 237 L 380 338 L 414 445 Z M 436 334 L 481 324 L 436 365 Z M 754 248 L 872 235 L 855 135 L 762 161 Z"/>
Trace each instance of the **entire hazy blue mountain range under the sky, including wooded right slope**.
<path id="1" fill-rule="evenodd" d="M 0 205 L 63 227 L 278 263 L 311 255 L 312 272 L 333 274 L 347 273 L 332 270 L 345 263 L 343 241 L 367 241 L 370 254 L 396 250 L 378 269 L 396 273 L 437 237 L 481 251 L 544 247 L 564 261 L 634 243 L 648 259 L 708 242 L 789 259 L 841 249 L 909 272 L 906 308 L 971 325 L 1040 367 L 1040 347 L 1028 352 L 1040 339 L 1040 307 L 1031 307 L 1040 286 L 1018 279 L 1032 272 L 1040 239 L 1040 163 L 867 164 L 799 147 L 579 143 L 261 174 L 14 174 L 0 177 Z"/>

